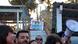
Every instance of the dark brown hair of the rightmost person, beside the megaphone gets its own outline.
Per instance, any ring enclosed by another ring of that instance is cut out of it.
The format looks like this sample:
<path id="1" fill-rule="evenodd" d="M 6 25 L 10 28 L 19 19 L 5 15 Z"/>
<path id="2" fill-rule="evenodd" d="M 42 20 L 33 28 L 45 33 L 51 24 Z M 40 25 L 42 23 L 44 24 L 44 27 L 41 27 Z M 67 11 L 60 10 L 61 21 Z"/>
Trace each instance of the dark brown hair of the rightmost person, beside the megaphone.
<path id="1" fill-rule="evenodd" d="M 45 44 L 56 44 L 56 42 L 62 44 L 60 37 L 56 34 L 52 34 L 47 37 Z"/>

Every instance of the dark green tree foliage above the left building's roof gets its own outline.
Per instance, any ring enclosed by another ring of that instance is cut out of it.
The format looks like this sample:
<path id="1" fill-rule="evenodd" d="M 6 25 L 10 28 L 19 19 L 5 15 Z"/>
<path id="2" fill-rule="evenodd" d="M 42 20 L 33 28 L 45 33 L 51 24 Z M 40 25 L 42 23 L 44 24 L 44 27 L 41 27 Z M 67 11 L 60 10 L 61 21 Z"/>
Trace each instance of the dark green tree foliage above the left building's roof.
<path id="1" fill-rule="evenodd" d="M 33 10 L 36 8 L 37 4 L 35 0 L 8 0 L 12 5 L 25 5 L 28 9 Z"/>

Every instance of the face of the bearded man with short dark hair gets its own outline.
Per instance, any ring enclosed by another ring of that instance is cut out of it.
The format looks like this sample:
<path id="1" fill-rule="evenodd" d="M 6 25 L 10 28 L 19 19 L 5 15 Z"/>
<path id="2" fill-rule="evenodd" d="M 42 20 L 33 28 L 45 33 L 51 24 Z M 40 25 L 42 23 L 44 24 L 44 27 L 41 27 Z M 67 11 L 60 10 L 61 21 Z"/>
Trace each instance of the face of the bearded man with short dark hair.
<path id="1" fill-rule="evenodd" d="M 18 44 L 29 44 L 29 34 L 20 33 L 17 39 Z"/>

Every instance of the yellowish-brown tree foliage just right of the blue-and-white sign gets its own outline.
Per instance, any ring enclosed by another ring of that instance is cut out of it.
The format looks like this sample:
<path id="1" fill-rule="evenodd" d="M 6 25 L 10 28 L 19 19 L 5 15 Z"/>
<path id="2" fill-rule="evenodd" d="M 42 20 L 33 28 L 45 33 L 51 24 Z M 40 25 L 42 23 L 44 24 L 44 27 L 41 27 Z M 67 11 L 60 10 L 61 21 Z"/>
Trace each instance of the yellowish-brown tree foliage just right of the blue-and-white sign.
<path id="1" fill-rule="evenodd" d="M 48 12 L 47 10 L 41 11 L 41 18 L 43 19 L 45 23 L 45 31 L 47 34 L 50 34 L 51 28 L 52 28 L 52 14 L 51 12 Z"/>

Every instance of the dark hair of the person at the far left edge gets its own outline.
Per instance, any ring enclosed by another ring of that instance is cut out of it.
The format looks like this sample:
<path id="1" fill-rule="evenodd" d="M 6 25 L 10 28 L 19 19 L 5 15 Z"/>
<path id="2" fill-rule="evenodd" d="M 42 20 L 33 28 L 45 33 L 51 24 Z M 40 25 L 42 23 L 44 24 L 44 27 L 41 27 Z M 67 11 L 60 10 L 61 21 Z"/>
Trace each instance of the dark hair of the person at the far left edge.
<path id="1" fill-rule="evenodd" d="M 8 33 L 13 33 L 13 30 L 10 26 L 7 25 L 0 25 L 0 44 L 6 44 L 6 37 L 8 36 Z"/>

